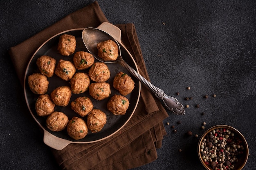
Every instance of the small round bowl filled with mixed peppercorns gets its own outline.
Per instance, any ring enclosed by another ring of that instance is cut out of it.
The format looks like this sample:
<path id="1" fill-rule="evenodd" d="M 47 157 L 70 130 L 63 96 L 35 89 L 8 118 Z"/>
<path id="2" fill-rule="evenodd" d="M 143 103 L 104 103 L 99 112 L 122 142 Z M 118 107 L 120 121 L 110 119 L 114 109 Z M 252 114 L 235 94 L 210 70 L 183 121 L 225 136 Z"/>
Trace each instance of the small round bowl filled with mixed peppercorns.
<path id="1" fill-rule="evenodd" d="M 238 130 L 217 125 L 200 138 L 198 156 L 207 170 L 241 170 L 247 162 L 249 148 Z"/>

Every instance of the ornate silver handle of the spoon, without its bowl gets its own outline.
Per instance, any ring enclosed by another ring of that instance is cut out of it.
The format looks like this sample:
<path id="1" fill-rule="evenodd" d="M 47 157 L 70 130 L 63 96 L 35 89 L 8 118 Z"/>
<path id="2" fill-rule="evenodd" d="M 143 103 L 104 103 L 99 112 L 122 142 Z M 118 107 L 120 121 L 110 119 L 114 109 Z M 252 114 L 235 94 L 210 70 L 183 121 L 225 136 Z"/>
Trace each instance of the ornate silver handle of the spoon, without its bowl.
<path id="1" fill-rule="evenodd" d="M 164 102 L 164 105 L 166 106 L 167 109 L 173 111 L 173 113 L 176 115 L 185 114 L 184 106 L 176 98 L 167 96 L 162 89 L 155 87 L 143 76 L 141 76 L 139 73 L 133 70 L 130 67 L 130 65 L 128 65 L 120 56 L 118 57 L 116 62 L 122 65 L 124 68 L 126 68 L 133 76 L 138 78 L 142 83 L 148 86 L 151 89 L 151 91 L 155 94 L 155 96 Z"/>

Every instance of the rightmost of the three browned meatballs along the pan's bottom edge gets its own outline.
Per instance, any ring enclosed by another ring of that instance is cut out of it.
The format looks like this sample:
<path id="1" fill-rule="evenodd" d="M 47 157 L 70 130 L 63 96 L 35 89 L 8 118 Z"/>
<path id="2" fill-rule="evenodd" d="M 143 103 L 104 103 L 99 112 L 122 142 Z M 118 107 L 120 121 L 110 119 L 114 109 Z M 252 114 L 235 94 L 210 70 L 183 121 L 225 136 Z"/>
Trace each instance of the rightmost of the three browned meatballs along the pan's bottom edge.
<path id="1" fill-rule="evenodd" d="M 99 109 L 93 109 L 87 117 L 87 125 L 88 129 L 92 131 L 92 133 L 96 133 L 101 131 L 103 126 L 107 122 L 107 116 L 106 114 L 99 110 Z"/>

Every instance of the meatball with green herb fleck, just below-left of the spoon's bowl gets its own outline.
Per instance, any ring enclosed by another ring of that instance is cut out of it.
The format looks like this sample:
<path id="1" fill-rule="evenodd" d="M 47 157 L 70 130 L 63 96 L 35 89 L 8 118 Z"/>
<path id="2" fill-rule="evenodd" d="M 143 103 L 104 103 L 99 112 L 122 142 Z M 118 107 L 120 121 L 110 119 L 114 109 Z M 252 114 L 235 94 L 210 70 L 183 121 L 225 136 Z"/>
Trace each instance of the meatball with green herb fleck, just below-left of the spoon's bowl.
<path id="1" fill-rule="evenodd" d="M 85 70 L 92 66 L 94 57 L 88 52 L 79 51 L 74 54 L 73 62 L 77 70 Z"/>

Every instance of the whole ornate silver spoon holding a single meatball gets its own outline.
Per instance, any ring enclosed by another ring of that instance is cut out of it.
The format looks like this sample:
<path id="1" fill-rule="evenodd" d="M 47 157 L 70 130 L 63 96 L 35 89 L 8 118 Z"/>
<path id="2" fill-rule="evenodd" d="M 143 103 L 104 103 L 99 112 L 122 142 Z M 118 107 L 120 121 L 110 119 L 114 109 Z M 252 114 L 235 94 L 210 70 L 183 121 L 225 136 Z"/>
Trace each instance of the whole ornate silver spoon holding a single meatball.
<path id="1" fill-rule="evenodd" d="M 126 68 L 133 76 L 139 79 L 142 83 L 144 83 L 146 86 L 150 88 L 150 90 L 155 94 L 157 98 L 162 100 L 164 102 L 164 105 L 167 109 L 173 111 L 176 115 L 184 115 L 185 110 L 183 105 L 174 97 L 167 96 L 162 89 L 159 89 L 152 85 L 149 81 L 147 81 L 143 76 L 141 76 L 139 73 L 137 73 L 135 70 L 133 70 L 130 65 L 128 65 L 123 58 L 121 57 L 121 48 L 119 46 L 119 43 L 108 33 L 105 31 L 102 31 L 98 28 L 85 28 L 82 32 L 82 39 L 83 43 L 85 44 L 85 47 L 87 50 L 99 61 L 103 63 L 119 63 L 124 68 Z M 119 48 L 119 56 L 115 61 L 105 61 L 101 59 L 98 56 L 98 49 L 97 44 L 102 41 L 106 41 L 108 39 L 111 39 L 114 41 L 118 48 Z"/>

